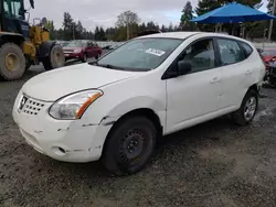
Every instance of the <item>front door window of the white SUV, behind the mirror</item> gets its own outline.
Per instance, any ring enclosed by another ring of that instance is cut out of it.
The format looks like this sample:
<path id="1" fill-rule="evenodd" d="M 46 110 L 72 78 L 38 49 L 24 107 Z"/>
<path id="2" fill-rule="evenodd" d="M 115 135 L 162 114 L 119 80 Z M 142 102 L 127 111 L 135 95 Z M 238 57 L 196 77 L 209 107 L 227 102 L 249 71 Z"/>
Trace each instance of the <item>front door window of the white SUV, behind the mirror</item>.
<path id="1" fill-rule="evenodd" d="M 198 41 L 189 46 L 184 56 L 179 61 L 190 62 L 192 65 L 192 72 L 202 72 L 215 67 L 215 55 L 213 40 L 206 39 Z"/>

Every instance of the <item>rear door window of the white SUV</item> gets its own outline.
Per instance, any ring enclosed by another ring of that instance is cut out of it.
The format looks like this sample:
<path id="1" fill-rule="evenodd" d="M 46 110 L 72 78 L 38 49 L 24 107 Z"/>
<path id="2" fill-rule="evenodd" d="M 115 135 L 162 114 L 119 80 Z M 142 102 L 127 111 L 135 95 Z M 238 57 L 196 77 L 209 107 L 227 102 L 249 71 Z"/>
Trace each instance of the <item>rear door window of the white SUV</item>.
<path id="1" fill-rule="evenodd" d="M 244 59 L 243 52 L 234 40 L 217 39 L 222 65 L 238 63 Z"/>

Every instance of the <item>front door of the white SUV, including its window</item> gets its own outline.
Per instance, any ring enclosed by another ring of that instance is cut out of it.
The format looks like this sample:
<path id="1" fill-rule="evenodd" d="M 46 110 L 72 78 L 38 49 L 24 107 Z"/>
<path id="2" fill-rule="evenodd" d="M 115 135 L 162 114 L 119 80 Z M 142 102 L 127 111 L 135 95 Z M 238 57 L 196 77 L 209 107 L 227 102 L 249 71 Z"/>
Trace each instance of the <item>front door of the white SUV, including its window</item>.
<path id="1" fill-rule="evenodd" d="M 213 39 L 191 44 L 178 61 L 190 62 L 192 70 L 167 79 L 167 133 L 215 117 L 221 107 L 222 70 L 216 67 Z"/>

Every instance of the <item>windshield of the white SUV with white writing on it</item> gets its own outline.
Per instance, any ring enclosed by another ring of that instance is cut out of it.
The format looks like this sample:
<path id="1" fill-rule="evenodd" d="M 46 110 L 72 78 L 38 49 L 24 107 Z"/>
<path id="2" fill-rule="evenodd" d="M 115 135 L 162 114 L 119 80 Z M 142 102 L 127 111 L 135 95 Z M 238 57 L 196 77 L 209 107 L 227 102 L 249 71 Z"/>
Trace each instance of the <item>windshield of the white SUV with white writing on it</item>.
<path id="1" fill-rule="evenodd" d="M 177 39 L 137 39 L 110 52 L 97 64 L 124 70 L 157 68 L 181 43 Z"/>

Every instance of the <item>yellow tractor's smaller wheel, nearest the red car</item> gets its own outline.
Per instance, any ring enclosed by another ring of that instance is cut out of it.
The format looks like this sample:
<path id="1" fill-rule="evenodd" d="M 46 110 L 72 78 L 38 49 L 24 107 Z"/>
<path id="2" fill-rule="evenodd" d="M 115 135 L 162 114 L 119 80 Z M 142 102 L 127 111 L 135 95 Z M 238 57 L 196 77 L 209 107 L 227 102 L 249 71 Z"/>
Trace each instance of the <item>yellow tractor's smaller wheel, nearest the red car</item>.
<path id="1" fill-rule="evenodd" d="M 55 44 L 51 48 L 49 56 L 42 59 L 42 63 L 46 70 L 63 67 L 65 64 L 63 48 L 60 45 Z"/>

